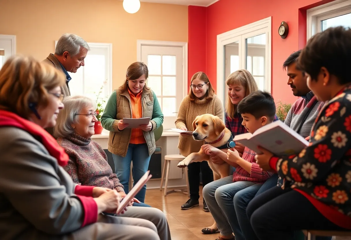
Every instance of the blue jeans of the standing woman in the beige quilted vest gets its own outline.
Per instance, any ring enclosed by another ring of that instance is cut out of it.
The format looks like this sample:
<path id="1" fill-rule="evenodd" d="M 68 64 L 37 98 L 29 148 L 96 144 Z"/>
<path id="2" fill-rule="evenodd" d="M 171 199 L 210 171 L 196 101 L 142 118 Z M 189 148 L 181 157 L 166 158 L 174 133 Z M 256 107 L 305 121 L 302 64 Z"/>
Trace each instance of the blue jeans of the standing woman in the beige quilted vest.
<path id="1" fill-rule="evenodd" d="M 151 156 L 147 144 L 129 144 L 127 155 L 125 157 L 112 154 L 115 173 L 124 186 L 124 192 L 129 192 L 129 175 L 131 162 L 133 161 L 133 186 L 147 172 Z M 145 201 L 146 185 L 141 188 L 140 192 L 135 196 L 140 202 Z"/>

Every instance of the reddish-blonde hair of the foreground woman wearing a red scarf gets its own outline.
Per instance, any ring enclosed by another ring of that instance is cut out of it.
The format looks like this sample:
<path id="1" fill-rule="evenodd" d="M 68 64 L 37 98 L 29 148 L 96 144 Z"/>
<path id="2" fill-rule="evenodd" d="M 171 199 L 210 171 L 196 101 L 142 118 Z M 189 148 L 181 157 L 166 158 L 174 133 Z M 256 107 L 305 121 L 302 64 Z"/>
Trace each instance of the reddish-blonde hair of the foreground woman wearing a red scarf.
<path id="1" fill-rule="evenodd" d="M 32 57 L 11 57 L 0 70 L 0 109 L 28 119 L 29 103 L 46 106 L 48 91 L 65 82 L 65 74 L 53 66 Z"/>

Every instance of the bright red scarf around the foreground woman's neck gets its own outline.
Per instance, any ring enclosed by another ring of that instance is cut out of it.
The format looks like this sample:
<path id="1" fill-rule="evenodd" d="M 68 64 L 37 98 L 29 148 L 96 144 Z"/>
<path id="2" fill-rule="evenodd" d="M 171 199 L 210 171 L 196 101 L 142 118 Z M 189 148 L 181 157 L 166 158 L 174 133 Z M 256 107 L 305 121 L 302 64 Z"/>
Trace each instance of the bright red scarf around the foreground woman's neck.
<path id="1" fill-rule="evenodd" d="M 46 132 L 44 128 L 34 122 L 21 118 L 15 113 L 0 110 L 0 127 L 1 126 L 21 128 L 32 135 L 39 136 L 41 138 L 41 143 L 49 154 L 57 159 L 58 164 L 60 166 L 67 165 L 68 155 L 65 149 L 59 146 L 53 136 Z"/>

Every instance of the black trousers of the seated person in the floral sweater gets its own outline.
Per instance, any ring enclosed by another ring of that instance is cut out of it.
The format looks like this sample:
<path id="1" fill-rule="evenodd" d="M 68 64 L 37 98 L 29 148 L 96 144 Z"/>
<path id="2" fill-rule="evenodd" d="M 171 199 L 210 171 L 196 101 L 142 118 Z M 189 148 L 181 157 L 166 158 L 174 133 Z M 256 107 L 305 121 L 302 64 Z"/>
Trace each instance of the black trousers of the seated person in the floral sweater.
<path id="1" fill-rule="evenodd" d="M 346 230 L 326 219 L 305 196 L 291 188 L 273 187 L 261 193 L 251 200 L 246 213 L 261 240 L 292 240 L 294 231 L 304 229 Z"/>

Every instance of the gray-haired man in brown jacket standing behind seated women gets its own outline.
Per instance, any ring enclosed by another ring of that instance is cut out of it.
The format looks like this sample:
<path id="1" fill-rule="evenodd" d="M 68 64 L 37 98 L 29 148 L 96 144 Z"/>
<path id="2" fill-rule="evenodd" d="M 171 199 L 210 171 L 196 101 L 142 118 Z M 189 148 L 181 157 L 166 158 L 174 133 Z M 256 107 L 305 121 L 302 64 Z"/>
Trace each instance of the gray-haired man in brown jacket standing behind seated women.
<path id="1" fill-rule="evenodd" d="M 71 95 L 68 82 L 71 80 L 68 72 L 76 73 L 80 66 L 84 66 L 84 59 L 90 50 L 87 42 L 80 36 L 65 33 L 57 41 L 55 54 L 50 53 L 43 61 L 61 69 L 66 74 L 66 85 L 61 87 L 64 96 Z"/>

